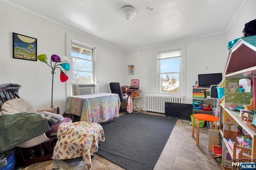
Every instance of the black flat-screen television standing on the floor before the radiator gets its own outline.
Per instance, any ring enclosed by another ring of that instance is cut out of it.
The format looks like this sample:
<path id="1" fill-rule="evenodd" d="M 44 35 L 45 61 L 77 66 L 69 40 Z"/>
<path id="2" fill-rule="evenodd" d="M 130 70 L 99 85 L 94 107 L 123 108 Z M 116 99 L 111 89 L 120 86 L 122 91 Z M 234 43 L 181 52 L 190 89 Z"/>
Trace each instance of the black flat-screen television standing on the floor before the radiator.
<path id="1" fill-rule="evenodd" d="M 165 102 L 164 115 L 180 119 L 191 119 L 193 114 L 192 104 Z"/>

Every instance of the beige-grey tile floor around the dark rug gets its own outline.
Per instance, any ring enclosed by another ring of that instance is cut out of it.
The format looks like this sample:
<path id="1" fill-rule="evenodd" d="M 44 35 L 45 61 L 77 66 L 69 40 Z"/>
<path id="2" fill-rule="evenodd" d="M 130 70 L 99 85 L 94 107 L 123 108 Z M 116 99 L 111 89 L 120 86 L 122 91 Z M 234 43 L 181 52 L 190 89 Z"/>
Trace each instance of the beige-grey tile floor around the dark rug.
<path id="1" fill-rule="evenodd" d="M 122 114 L 124 113 L 120 113 L 120 115 Z M 149 114 L 164 116 L 157 113 Z M 184 123 L 188 124 L 188 122 Z M 191 137 L 192 126 L 182 125 L 178 119 L 154 170 L 221 170 L 220 163 L 213 159 L 212 152 L 208 152 L 208 129 L 200 128 L 200 131 L 199 146 L 197 147 L 196 138 Z M 91 170 L 124 169 L 102 156 L 94 154 Z"/>

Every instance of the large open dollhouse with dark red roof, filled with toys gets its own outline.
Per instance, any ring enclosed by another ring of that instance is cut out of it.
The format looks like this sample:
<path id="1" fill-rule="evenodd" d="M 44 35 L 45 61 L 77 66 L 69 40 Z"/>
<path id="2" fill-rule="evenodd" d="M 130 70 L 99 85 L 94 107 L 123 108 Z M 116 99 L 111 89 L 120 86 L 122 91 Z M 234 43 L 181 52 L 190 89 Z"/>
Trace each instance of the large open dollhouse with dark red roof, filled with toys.
<path id="1" fill-rule="evenodd" d="M 229 50 L 224 75 L 221 163 L 222 168 L 235 170 L 241 168 L 241 162 L 256 162 L 256 35 L 240 38 Z M 230 109 L 230 105 L 236 108 Z"/>

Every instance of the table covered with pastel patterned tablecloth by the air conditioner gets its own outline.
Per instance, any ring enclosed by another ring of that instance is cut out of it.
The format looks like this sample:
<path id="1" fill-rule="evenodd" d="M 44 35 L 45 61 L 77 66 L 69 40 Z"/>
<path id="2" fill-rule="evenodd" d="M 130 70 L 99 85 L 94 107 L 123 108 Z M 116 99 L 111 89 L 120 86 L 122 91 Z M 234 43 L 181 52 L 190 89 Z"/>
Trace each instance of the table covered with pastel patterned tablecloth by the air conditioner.
<path id="1" fill-rule="evenodd" d="M 65 113 L 81 116 L 81 121 L 101 123 L 119 117 L 120 104 L 118 94 L 112 93 L 69 96 Z"/>

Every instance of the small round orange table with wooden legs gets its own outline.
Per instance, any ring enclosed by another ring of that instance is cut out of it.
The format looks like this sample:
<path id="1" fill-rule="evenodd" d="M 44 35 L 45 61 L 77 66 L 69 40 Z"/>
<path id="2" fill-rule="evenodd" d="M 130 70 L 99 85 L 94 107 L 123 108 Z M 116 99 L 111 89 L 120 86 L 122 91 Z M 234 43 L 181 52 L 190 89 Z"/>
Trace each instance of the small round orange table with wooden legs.
<path id="1" fill-rule="evenodd" d="M 192 122 L 195 122 L 195 118 L 197 118 L 197 124 L 196 124 L 196 146 L 199 146 L 199 124 L 201 120 L 205 121 L 210 121 L 211 123 L 211 129 L 213 129 L 213 124 L 215 125 L 215 130 L 218 130 L 218 125 L 217 122 L 219 120 L 218 117 L 213 116 L 213 115 L 208 115 L 208 114 L 203 114 L 203 113 L 197 113 L 194 114 Z M 195 123 L 192 123 L 192 137 L 194 137 L 194 127 Z"/>

